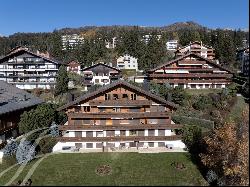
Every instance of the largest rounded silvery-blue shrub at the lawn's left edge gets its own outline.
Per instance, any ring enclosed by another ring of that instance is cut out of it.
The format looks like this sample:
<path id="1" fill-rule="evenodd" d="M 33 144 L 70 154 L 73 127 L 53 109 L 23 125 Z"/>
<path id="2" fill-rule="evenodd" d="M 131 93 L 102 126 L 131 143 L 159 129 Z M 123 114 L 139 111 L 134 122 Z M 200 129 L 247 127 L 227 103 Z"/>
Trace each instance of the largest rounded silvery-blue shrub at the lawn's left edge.
<path id="1" fill-rule="evenodd" d="M 35 148 L 36 148 L 36 145 L 32 144 L 30 141 L 25 140 L 25 141 L 20 142 L 16 151 L 17 163 L 25 164 L 33 160 L 33 158 L 36 155 Z"/>

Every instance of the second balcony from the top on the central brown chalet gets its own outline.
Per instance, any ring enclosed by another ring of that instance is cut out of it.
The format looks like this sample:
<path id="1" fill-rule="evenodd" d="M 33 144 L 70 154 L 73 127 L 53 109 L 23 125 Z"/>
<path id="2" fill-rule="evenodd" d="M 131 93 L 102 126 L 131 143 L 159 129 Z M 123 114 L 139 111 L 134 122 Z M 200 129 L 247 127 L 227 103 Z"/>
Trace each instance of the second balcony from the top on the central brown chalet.
<path id="1" fill-rule="evenodd" d="M 110 118 L 158 118 L 169 117 L 170 112 L 134 112 L 134 113 L 115 113 L 115 112 L 99 112 L 99 113 L 68 113 L 68 118 L 78 119 L 110 119 Z"/>

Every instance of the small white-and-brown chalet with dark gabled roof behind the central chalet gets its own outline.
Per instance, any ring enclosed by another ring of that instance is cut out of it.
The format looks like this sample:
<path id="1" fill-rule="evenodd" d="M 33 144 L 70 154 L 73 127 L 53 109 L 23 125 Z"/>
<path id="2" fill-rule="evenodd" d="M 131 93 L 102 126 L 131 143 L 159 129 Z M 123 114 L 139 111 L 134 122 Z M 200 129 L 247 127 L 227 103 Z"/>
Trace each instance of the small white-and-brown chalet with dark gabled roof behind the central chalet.
<path id="1" fill-rule="evenodd" d="M 82 70 L 83 83 L 87 87 L 92 85 L 107 85 L 120 79 L 121 71 L 104 63 L 98 63 Z"/>

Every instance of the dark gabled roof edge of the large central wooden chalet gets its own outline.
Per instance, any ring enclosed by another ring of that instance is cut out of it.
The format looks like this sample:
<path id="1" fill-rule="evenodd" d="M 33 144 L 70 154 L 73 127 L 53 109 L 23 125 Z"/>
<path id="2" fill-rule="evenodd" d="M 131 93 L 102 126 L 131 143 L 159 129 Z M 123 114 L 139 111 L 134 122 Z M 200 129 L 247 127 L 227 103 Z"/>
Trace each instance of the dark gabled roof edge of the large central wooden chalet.
<path id="1" fill-rule="evenodd" d="M 60 111 L 60 110 L 64 110 L 70 106 L 73 106 L 77 103 L 80 103 L 82 101 L 88 101 L 90 100 L 92 97 L 98 95 L 98 94 L 101 94 L 101 93 L 105 93 L 107 92 L 108 90 L 111 90 L 112 88 L 116 87 L 116 86 L 125 86 L 125 87 L 128 87 L 132 90 L 135 90 L 143 95 L 146 95 L 160 103 L 163 103 L 163 104 L 166 104 L 166 105 L 169 105 L 173 108 L 177 108 L 177 104 L 173 103 L 173 102 L 169 102 L 169 101 L 166 101 L 165 99 L 163 99 L 162 97 L 160 96 L 157 96 L 157 95 L 154 95 L 152 93 L 150 93 L 149 91 L 145 91 L 143 90 L 142 88 L 139 88 L 139 87 L 136 87 L 134 85 L 131 85 L 129 84 L 128 82 L 125 82 L 125 81 L 122 81 L 122 80 L 118 80 L 118 81 L 115 81 L 113 82 L 112 84 L 109 84 L 105 87 L 102 87 L 94 92 L 91 92 L 91 93 L 86 93 L 85 95 L 81 96 L 81 97 L 78 97 L 76 100 L 72 101 L 72 102 L 69 102 L 61 107 L 59 107 L 57 110 Z"/>

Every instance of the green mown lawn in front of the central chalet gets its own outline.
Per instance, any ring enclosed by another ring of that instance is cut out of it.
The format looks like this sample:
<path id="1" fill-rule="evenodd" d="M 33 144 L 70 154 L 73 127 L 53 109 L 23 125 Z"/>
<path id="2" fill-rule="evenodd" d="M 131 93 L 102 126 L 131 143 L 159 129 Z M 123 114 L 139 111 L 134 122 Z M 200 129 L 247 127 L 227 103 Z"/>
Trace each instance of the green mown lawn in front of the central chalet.
<path id="1" fill-rule="evenodd" d="M 172 162 L 186 168 L 178 170 Z M 23 179 L 36 161 L 28 164 L 18 179 Z M 109 164 L 112 173 L 99 176 L 96 167 Z M 0 178 L 4 185 L 17 167 Z M 18 180 L 17 179 L 17 180 Z M 189 153 L 64 153 L 44 159 L 31 176 L 32 185 L 207 185 Z"/>

